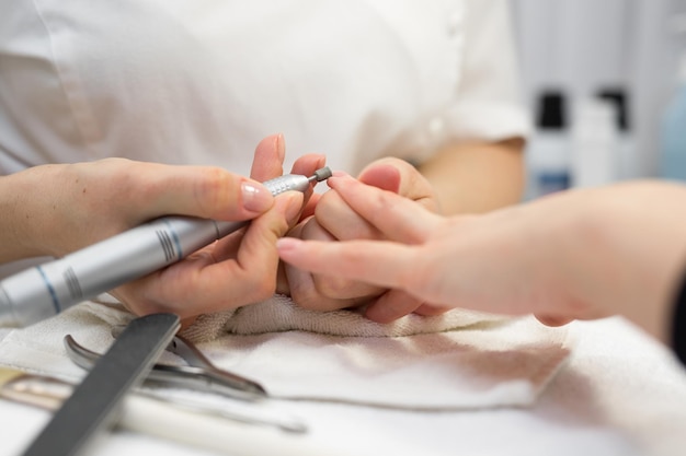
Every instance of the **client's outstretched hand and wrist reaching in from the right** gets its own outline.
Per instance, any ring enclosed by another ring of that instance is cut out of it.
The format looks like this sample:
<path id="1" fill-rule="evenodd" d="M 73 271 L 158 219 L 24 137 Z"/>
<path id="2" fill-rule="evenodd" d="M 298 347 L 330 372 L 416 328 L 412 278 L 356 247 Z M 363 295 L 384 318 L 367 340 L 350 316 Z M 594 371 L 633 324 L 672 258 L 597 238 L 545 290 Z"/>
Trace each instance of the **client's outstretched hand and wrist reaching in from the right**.
<path id="1" fill-rule="evenodd" d="M 278 241 L 300 269 L 551 326 L 624 315 L 668 337 L 686 264 L 686 186 L 631 182 L 445 218 L 350 176 L 329 185 L 388 241 Z"/>

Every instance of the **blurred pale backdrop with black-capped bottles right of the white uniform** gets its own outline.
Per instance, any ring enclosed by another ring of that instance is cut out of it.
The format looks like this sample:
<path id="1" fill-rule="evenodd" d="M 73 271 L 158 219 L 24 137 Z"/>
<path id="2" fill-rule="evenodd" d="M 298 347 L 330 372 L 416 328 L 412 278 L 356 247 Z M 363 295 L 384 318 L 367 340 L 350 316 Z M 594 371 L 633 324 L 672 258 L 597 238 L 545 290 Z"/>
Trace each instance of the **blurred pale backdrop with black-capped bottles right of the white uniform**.
<path id="1" fill-rule="evenodd" d="M 528 198 L 636 177 L 686 180 L 686 0 L 511 0 Z"/>

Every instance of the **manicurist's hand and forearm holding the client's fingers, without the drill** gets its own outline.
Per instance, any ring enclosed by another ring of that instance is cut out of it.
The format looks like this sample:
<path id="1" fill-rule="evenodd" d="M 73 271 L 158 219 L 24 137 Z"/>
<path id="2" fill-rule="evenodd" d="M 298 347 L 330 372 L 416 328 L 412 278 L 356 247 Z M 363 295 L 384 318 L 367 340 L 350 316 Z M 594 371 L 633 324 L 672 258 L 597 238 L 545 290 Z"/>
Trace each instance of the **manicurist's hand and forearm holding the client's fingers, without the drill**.
<path id="1" fill-rule="evenodd" d="M 484 212 L 521 199 L 523 144 L 521 139 L 453 144 L 419 168 L 399 159 L 381 159 L 368 165 L 358 178 L 434 212 Z M 347 207 L 336 192 L 324 194 L 315 214 L 288 235 L 318 241 L 384 238 L 382 233 Z M 392 321 L 412 312 L 422 315 L 445 312 L 444 308 L 422 305 L 421 301 L 402 291 L 325 277 L 288 265 L 282 269 L 279 292 L 290 294 L 305 308 L 330 311 L 365 305 L 365 316 L 379 323 Z"/>

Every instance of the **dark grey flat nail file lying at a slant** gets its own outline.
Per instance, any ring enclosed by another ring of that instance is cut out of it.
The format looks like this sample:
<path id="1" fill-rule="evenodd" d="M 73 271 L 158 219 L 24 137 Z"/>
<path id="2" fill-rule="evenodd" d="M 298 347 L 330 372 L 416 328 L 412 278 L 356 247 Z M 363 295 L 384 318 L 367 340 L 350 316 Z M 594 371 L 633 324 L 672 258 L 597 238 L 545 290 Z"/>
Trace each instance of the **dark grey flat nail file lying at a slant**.
<path id="1" fill-rule="evenodd" d="M 172 314 L 129 323 L 24 456 L 77 455 L 92 436 L 114 423 L 126 393 L 142 382 L 179 327 L 179 317 Z"/>

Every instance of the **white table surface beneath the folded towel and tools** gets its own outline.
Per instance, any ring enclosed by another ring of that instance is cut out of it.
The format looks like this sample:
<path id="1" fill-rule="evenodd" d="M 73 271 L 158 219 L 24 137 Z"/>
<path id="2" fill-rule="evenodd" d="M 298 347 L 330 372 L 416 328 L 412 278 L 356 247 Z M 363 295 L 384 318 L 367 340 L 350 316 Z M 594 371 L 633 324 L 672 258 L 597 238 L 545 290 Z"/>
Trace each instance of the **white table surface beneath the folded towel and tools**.
<path id="1" fill-rule="evenodd" d="M 291 406 L 310 425 L 308 439 L 323 443 L 311 454 L 335 448 L 351 455 L 685 455 L 686 370 L 622 319 L 578 321 L 571 330 L 578 343 L 570 361 L 530 408 L 413 412 Z M 0 455 L 20 455 L 48 419 L 48 412 L 0 400 Z M 270 454 L 265 443 L 255 439 L 255 455 Z M 233 454 L 222 448 L 115 431 L 99 437 L 87 454 Z"/>

